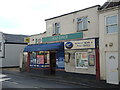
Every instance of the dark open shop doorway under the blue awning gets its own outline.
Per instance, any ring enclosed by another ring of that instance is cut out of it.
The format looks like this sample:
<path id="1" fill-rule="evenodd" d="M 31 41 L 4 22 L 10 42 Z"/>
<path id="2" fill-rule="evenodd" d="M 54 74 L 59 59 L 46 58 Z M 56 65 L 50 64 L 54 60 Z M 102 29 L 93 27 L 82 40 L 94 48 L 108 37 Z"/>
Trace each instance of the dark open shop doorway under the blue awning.
<path id="1" fill-rule="evenodd" d="M 56 52 L 50 52 L 50 74 L 55 75 L 56 69 Z"/>

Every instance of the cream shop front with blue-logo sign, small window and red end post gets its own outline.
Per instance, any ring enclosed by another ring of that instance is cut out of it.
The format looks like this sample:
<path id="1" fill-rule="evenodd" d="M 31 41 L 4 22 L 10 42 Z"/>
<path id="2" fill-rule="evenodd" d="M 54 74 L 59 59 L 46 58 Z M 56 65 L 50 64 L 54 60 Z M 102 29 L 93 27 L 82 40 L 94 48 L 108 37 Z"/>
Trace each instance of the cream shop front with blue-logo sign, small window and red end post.
<path id="1" fill-rule="evenodd" d="M 65 71 L 95 75 L 100 79 L 98 39 L 65 42 Z"/>

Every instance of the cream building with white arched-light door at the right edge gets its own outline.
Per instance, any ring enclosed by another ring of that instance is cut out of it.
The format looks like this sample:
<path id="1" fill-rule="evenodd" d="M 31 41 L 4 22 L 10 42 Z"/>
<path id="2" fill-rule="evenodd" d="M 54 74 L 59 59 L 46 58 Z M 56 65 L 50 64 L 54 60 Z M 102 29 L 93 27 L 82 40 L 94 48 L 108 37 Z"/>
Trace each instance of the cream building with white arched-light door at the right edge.
<path id="1" fill-rule="evenodd" d="M 99 9 L 100 78 L 120 82 L 120 0 L 108 0 Z"/>

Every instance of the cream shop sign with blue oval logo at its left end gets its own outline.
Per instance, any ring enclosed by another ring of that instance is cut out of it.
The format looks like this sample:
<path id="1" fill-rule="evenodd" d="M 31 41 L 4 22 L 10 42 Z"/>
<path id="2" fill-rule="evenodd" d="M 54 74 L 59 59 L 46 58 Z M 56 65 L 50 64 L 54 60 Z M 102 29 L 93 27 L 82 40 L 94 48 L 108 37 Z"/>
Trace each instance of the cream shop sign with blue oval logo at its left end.
<path id="1" fill-rule="evenodd" d="M 95 39 L 88 39 L 88 40 L 79 40 L 79 41 L 71 41 L 73 44 L 72 48 L 69 48 L 70 44 L 65 42 L 65 49 L 88 49 L 88 48 L 95 48 Z"/>

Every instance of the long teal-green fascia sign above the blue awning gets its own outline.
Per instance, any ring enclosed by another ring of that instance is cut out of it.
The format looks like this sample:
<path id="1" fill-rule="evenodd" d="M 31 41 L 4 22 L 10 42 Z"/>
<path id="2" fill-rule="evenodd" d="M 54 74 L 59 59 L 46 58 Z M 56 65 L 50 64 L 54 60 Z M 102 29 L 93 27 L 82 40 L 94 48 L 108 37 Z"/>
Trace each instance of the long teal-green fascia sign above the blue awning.
<path id="1" fill-rule="evenodd" d="M 58 35 L 52 37 L 44 37 L 42 38 L 42 42 L 53 42 L 53 41 L 62 41 L 62 40 L 71 40 L 71 39 L 81 39 L 83 38 L 83 32 L 66 34 L 66 35 Z"/>

